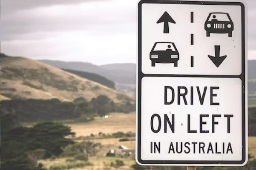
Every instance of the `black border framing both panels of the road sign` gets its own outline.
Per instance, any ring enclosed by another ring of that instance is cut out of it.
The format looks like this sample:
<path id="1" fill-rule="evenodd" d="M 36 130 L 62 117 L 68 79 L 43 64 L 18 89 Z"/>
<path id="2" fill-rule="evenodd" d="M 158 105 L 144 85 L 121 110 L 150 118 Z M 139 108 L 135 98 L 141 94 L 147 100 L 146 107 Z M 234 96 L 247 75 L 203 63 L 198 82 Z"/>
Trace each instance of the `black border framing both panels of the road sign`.
<path id="1" fill-rule="evenodd" d="M 235 75 L 162 75 L 162 74 L 144 74 L 141 71 L 141 6 L 143 3 L 154 3 L 154 4 L 191 4 L 191 5 L 231 5 L 231 6 L 241 6 L 242 11 L 242 74 L 235 76 Z M 137 156 L 136 160 L 140 164 L 210 164 L 213 166 L 214 164 L 218 166 L 224 165 L 231 165 L 231 164 L 244 164 L 246 161 L 246 154 L 247 154 L 247 143 L 246 143 L 246 118 L 245 118 L 245 7 L 243 3 L 240 2 L 209 2 L 209 1 L 169 1 L 169 0 L 141 0 L 138 3 L 138 70 L 137 70 L 137 83 L 138 83 L 138 91 L 137 91 L 137 142 L 136 142 L 136 149 L 137 149 Z M 194 78 L 240 78 L 242 80 L 242 160 L 240 161 L 181 161 L 181 160 L 142 160 L 141 159 L 141 80 L 143 77 L 194 77 Z M 246 87 L 247 88 L 247 87 Z"/>

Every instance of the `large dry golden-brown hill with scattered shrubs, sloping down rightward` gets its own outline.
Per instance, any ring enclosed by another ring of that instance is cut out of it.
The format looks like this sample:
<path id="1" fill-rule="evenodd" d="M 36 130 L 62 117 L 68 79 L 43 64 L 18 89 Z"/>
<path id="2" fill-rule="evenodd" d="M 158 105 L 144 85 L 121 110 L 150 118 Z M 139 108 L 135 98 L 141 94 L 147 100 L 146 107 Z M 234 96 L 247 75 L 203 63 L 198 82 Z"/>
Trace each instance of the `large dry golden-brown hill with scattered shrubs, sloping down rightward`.
<path id="1" fill-rule="evenodd" d="M 91 100 L 106 95 L 115 103 L 133 98 L 94 81 L 22 57 L 2 58 L 1 95 L 10 99 Z"/>

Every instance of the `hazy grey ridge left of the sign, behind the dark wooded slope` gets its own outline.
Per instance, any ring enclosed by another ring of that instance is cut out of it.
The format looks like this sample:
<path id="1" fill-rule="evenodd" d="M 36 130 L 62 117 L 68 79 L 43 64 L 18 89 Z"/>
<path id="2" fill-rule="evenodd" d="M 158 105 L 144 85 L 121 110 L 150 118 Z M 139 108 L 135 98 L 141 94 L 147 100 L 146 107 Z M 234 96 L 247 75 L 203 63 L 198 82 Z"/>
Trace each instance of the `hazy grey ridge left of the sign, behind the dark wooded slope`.
<path id="1" fill-rule="evenodd" d="M 39 61 L 61 69 L 95 73 L 118 84 L 136 84 L 136 64 L 107 64 L 97 66 L 85 62 Z"/>

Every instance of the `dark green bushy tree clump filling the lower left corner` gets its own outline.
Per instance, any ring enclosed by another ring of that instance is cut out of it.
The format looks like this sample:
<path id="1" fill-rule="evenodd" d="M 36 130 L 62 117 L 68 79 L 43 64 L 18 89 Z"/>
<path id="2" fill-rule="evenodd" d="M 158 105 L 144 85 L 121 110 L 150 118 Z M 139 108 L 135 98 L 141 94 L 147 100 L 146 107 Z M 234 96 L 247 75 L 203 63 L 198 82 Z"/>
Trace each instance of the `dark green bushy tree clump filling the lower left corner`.
<path id="1" fill-rule="evenodd" d="M 58 155 L 62 148 L 74 143 L 65 137 L 74 135 L 70 127 L 59 123 L 38 123 L 33 127 L 23 127 L 15 123 L 15 115 L 1 116 L 1 142 L 5 147 L 1 153 L 1 167 L 5 170 L 38 170 L 37 160 L 31 151 L 45 150 L 46 156 Z M 3 128 L 5 127 L 5 128 Z"/>

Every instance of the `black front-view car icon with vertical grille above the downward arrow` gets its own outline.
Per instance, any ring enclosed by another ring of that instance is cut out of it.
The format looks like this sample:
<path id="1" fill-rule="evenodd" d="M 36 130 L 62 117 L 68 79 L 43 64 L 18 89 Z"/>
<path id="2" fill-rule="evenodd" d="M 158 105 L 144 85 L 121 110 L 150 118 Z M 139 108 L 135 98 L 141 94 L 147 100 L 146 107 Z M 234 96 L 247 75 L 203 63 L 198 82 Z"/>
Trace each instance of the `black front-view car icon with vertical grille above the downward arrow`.
<path id="1" fill-rule="evenodd" d="M 228 36 L 232 37 L 234 24 L 228 13 L 215 12 L 209 14 L 204 29 L 206 36 L 210 36 L 210 33 L 228 33 Z"/>

